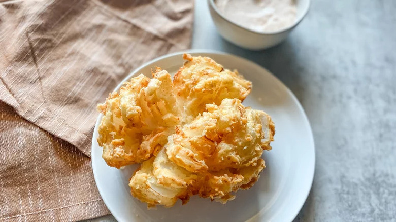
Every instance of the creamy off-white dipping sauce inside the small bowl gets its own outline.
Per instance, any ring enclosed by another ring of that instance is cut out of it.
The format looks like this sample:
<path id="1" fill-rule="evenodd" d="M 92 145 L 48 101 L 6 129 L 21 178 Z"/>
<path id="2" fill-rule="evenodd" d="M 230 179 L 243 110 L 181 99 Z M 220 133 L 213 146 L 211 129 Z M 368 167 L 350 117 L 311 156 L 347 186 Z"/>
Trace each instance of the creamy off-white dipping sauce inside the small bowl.
<path id="1" fill-rule="evenodd" d="M 295 0 L 215 0 L 228 20 L 257 32 L 274 32 L 290 27 L 295 19 Z"/>

